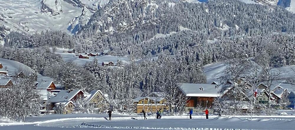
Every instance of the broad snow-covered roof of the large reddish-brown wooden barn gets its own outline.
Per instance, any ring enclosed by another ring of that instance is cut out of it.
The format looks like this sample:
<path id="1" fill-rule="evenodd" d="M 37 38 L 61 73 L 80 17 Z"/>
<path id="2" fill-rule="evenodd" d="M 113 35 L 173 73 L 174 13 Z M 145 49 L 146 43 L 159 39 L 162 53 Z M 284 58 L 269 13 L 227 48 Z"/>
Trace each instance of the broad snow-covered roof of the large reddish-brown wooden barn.
<path id="1" fill-rule="evenodd" d="M 211 84 L 188 84 L 183 83 L 179 87 L 181 91 L 189 97 L 218 97 L 218 91 L 221 87 L 215 88 Z M 201 90 L 203 88 L 203 90 Z"/>

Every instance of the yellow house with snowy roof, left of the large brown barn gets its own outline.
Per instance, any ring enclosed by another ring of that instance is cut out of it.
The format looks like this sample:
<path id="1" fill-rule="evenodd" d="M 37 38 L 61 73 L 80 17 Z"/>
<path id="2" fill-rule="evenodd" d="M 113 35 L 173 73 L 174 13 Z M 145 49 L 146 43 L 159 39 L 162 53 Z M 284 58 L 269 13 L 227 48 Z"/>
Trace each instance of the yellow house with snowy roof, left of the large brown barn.
<path id="1" fill-rule="evenodd" d="M 137 97 L 132 101 L 136 105 L 135 113 L 140 113 L 142 110 L 156 113 L 159 109 L 169 109 L 165 98 L 158 92 L 152 92 L 145 97 Z"/>

